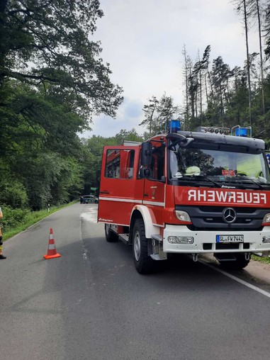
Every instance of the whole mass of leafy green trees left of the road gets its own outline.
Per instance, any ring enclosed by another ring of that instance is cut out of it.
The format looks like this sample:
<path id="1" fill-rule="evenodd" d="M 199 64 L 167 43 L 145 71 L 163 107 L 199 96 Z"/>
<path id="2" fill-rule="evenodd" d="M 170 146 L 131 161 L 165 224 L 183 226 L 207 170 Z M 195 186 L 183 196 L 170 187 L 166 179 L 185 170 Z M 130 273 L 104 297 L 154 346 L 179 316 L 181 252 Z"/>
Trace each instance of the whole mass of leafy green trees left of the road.
<path id="1" fill-rule="evenodd" d="M 78 134 L 123 101 L 91 41 L 101 16 L 98 0 L 0 3 L 0 196 L 13 209 L 77 198 L 100 164 Z"/>

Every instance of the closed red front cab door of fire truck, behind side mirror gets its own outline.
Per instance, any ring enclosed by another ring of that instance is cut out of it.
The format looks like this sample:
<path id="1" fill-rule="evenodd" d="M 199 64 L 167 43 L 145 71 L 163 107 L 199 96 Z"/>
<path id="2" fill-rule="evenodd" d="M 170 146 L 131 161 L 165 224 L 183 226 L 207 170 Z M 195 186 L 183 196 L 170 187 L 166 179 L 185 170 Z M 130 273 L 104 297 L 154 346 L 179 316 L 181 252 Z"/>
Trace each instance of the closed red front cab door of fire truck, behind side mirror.
<path id="1" fill-rule="evenodd" d="M 165 206 L 165 147 L 153 142 L 150 174 L 145 179 L 143 203 L 151 208 L 157 225 L 164 225 Z M 154 219 L 153 219 L 154 220 Z"/>

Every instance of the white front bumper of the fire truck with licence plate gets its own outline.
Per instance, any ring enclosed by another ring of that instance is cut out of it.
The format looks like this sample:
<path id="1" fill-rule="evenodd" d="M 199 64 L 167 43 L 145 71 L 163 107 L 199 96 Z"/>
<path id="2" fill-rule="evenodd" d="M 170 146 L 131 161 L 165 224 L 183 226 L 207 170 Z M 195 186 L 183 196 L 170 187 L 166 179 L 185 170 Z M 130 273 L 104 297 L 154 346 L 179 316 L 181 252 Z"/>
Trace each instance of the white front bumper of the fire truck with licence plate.
<path id="1" fill-rule="evenodd" d="M 244 235 L 244 242 L 217 243 L 216 235 Z M 193 237 L 193 244 L 171 244 L 169 236 Z M 163 251 L 167 253 L 206 254 L 224 252 L 267 252 L 270 243 L 263 243 L 270 236 L 270 228 L 261 231 L 191 231 L 185 225 L 166 225 L 163 235 Z M 230 248 L 231 244 L 231 248 Z M 224 245 L 224 246 L 223 246 Z"/>

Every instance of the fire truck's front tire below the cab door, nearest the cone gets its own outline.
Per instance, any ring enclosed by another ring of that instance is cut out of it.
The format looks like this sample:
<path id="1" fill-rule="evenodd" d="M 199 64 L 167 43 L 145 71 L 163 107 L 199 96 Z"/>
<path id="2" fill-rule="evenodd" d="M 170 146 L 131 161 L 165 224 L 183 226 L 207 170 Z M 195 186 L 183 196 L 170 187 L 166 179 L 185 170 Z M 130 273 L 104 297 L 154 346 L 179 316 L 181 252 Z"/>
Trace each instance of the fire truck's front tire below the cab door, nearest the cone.
<path id="1" fill-rule="evenodd" d="M 148 239 L 145 237 L 145 223 L 137 219 L 133 229 L 133 259 L 140 274 L 150 274 L 157 269 L 156 261 L 148 256 Z"/>

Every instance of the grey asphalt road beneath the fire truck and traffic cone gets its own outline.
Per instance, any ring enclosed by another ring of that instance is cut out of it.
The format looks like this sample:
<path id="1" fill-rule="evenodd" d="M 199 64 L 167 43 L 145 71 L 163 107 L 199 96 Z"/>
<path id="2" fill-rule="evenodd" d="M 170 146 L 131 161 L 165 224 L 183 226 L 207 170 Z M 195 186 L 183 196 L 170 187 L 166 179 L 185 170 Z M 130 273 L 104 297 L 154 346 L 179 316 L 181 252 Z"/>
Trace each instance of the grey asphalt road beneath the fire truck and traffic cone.
<path id="1" fill-rule="evenodd" d="M 1 360 L 269 360 L 269 267 L 228 277 L 176 257 L 142 276 L 96 210 L 69 206 L 4 243 Z M 62 257 L 45 260 L 50 227 Z"/>

